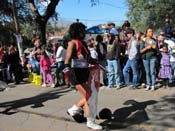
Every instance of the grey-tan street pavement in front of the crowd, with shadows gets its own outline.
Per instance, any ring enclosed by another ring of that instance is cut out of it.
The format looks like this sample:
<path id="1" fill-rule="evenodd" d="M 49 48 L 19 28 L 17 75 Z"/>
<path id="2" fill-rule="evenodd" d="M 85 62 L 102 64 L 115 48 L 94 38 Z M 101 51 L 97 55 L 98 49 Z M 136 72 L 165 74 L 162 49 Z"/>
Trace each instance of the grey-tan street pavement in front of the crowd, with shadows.
<path id="1" fill-rule="evenodd" d="M 80 94 L 71 88 L 42 88 L 24 82 L 0 92 L 0 131 L 91 131 L 66 113 Z M 175 88 L 155 91 L 103 89 L 98 112 L 108 108 L 111 120 L 96 120 L 105 131 L 175 131 Z"/>

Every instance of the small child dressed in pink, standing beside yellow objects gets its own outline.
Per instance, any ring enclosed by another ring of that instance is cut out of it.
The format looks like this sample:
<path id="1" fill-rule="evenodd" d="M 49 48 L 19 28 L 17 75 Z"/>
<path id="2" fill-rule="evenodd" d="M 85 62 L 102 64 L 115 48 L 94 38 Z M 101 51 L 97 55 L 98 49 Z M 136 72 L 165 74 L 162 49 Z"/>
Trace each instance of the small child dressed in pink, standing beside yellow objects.
<path id="1" fill-rule="evenodd" d="M 41 51 L 40 67 L 42 70 L 43 84 L 42 87 L 46 87 L 47 79 L 50 81 L 51 87 L 55 87 L 53 77 L 51 74 L 51 61 L 45 51 Z"/>

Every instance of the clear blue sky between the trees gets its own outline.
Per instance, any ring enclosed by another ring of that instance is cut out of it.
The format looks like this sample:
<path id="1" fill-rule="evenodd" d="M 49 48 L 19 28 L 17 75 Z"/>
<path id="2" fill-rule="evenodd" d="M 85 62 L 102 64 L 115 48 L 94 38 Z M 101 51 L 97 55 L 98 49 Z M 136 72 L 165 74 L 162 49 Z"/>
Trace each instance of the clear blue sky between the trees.
<path id="1" fill-rule="evenodd" d="M 97 5 L 91 6 L 90 0 L 62 0 L 56 11 L 59 18 L 75 22 L 79 19 L 87 27 L 114 22 L 120 26 L 127 19 L 125 0 L 96 0 Z"/>

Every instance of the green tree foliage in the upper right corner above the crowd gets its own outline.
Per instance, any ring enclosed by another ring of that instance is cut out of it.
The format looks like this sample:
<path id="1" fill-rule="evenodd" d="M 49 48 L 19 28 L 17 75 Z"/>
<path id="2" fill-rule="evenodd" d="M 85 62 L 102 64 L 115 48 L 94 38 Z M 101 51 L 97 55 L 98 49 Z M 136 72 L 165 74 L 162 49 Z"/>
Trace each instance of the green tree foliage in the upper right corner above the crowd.
<path id="1" fill-rule="evenodd" d="M 148 26 L 156 30 L 163 29 L 165 19 L 174 23 L 174 0 L 126 0 L 131 25 L 138 31 L 145 31 Z"/>

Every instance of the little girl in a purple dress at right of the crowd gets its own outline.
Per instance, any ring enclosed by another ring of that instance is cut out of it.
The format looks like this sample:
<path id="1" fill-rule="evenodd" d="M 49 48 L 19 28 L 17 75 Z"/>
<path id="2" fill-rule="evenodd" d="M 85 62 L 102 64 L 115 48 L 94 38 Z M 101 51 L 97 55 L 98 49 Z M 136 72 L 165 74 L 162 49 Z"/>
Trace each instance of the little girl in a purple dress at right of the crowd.
<path id="1" fill-rule="evenodd" d="M 163 80 L 164 88 L 168 87 L 169 79 L 172 77 L 172 68 L 170 65 L 170 56 L 168 54 L 168 47 L 166 44 L 163 45 L 162 48 L 162 57 L 160 61 L 160 71 L 159 77 Z"/>

